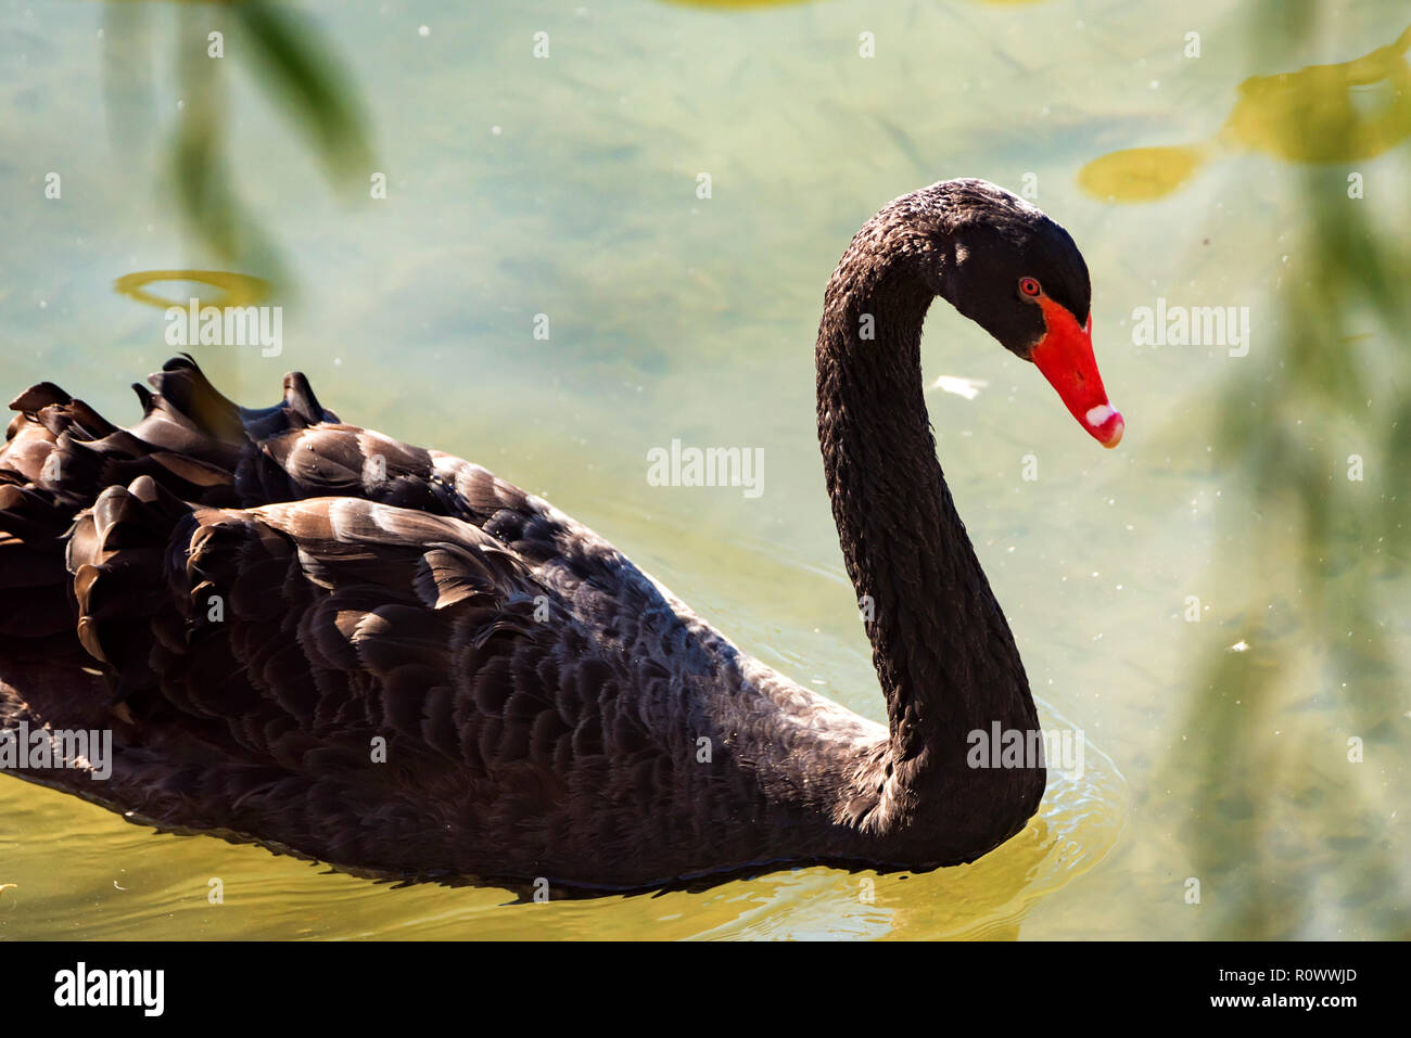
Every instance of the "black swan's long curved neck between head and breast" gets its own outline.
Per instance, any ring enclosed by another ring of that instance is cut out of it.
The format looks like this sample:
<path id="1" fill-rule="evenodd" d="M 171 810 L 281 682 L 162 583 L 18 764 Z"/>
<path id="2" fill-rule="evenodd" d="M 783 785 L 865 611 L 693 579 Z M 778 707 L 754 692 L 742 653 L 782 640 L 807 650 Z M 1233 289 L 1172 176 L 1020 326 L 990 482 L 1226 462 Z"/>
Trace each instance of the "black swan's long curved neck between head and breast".
<path id="1" fill-rule="evenodd" d="M 913 250 L 889 247 L 888 231 L 865 227 L 828 285 L 818 441 L 888 701 L 888 770 L 920 784 L 965 769 L 971 732 L 989 733 L 995 722 L 1036 731 L 1037 718 L 935 457 L 920 358 L 934 289 Z"/>

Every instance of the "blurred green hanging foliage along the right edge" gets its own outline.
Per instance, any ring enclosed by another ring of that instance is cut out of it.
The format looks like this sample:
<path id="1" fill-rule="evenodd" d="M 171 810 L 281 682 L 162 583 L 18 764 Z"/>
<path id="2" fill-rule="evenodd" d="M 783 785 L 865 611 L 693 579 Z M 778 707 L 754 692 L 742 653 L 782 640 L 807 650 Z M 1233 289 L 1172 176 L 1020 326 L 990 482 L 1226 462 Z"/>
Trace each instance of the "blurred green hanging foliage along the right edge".
<path id="1" fill-rule="evenodd" d="M 1256 4 L 1247 38 L 1263 48 L 1259 59 L 1336 41 L 1331 7 Z M 1369 59 L 1386 75 L 1386 55 L 1403 61 L 1408 44 L 1411 31 Z M 1369 59 L 1321 68 L 1366 71 Z M 1408 92 L 1398 92 L 1391 110 L 1404 114 Z M 1302 219 L 1270 240 L 1290 261 L 1274 286 L 1277 348 L 1233 364 L 1219 406 L 1216 457 L 1236 491 L 1222 505 L 1221 570 L 1228 585 L 1249 574 L 1236 592 L 1247 599 L 1243 613 L 1222 609 L 1232 619 L 1195 671 L 1185 742 L 1167 762 L 1195 776 L 1178 836 L 1202 903 L 1218 905 L 1218 936 L 1242 939 L 1331 936 L 1319 925 L 1359 905 L 1379 907 L 1362 918 L 1380 936 L 1411 936 L 1397 821 L 1411 716 L 1411 227 L 1404 192 L 1388 192 L 1384 173 L 1377 203 L 1349 190 L 1356 168 L 1331 161 L 1369 155 L 1366 120 L 1350 106 L 1319 111 L 1276 134 L 1284 144 L 1311 135 L 1283 157 L 1325 162 L 1292 172 Z M 1308 709 L 1314 702 L 1331 712 Z M 1362 763 L 1349 759 L 1349 738 L 1363 740 Z M 1308 846 L 1292 834 L 1321 842 L 1291 853 Z"/>

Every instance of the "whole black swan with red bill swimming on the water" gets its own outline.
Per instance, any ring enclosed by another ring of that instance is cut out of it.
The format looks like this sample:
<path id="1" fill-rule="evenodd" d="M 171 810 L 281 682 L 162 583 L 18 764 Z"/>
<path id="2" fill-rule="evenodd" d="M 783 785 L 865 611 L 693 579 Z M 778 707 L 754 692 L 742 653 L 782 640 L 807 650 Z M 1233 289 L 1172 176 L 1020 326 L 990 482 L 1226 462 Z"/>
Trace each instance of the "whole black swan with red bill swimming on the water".
<path id="1" fill-rule="evenodd" d="M 937 295 L 1101 443 L 1123 429 L 1082 255 L 1038 209 L 950 181 L 858 231 L 824 296 L 818 440 L 888 728 L 484 468 L 340 422 L 302 374 L 257 410 L 176 358 L 155 393 L 135 386 L 127 429 L 49 382 L 10 405 L 10 770 L 140 824 L 408 880 L 626 890 L 979 857 L 1034 814 L 1046 770 L 968 762 L 971 732 L 1038 718 L 935 457 Z M 89 729 L 111 732 L 102 780 L 65 743 Z"/>

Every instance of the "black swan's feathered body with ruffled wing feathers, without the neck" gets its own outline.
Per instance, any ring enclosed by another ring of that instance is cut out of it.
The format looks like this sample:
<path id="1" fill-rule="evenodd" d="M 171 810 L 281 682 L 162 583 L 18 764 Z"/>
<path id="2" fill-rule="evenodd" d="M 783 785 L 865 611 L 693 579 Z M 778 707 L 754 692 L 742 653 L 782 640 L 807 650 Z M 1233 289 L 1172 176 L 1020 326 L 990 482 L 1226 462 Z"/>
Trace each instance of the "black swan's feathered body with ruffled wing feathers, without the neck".
<path id="1" fill-rule="evenodd" d="M 128 429 L 41 384 L 0 450 L 0 728 L 111 729 L 21 776 L 396 877 L 639 887 L 869 856 L 886 731 L 741 654 L 487 470 L 262 410 L 189 358 Z"/>

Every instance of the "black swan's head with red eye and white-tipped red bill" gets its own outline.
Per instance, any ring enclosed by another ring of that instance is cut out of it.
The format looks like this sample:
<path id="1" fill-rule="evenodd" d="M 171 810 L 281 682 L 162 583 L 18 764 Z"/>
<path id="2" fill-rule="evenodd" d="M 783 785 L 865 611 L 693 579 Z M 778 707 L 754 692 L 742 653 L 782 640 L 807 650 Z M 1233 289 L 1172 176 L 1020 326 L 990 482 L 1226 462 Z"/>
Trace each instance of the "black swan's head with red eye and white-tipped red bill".
<path id="1" fill-rule="evenodd" d="M 1092 353 L 1092 283 L 1072 237 L 1041 209 L 985 181 L 948 181 L 931 248 L 937 295 L 1031 361 L 1105 447 L 1125 423 Z"/>

